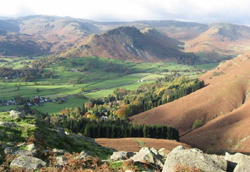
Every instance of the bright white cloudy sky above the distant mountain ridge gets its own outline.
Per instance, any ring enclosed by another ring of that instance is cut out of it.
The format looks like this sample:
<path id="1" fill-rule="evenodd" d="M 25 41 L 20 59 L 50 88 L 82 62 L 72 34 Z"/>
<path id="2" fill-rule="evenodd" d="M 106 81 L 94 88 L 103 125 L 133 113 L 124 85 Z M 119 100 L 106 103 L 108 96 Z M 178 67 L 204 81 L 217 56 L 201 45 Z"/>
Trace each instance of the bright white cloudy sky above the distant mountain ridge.
<path id="1" fill-rule="evenodd" d="M 249 0 L 1 1 L 0 16 L 9 17 L 54 15 L 95 21 L 179 20 L 250 25 Z"/>

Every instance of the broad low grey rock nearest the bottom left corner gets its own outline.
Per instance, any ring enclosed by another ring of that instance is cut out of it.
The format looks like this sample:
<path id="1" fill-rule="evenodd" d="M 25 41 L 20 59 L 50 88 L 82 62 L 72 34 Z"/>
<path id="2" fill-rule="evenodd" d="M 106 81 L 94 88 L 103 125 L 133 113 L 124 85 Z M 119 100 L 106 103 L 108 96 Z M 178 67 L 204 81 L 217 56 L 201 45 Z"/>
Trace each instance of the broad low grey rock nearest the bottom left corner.
<path id="1" fill-rule="evenodd" d="M 46 166 L 46 162 L 42 161 L 41 159 L 30 157 L 30 156 L 20 156 L 15 158 L 11 164 L 11 167 L 21 167 L 25 170 L 37 170 L 41 167 Z"/>

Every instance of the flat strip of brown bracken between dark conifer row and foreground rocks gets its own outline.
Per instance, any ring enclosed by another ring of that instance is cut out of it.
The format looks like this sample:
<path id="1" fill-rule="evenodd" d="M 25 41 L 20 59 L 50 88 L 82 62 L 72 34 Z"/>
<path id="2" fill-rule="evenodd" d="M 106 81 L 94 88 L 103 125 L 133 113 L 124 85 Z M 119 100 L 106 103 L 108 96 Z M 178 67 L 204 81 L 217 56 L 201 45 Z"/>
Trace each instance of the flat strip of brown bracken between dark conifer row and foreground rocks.
<path id="1" fill-rule="evenodd" d="M 185 148 L 191 148 L 185 143 L 176 142 L 173 140 L 165 139 L 150 139 L 150 138 L 122 138 L 122 139 L 105 139 L 98 138 L 95 141 L 105 147 L 114 148 L 117 151 L 129 151 L 139 152 L 142 147 L 154 147 L 156 149 L 165 148 L 165 152 L 169 153 L 172 149 L 177 146 L 184 146 Z M 137 141 L 140 141 L 139 145 Z"/>

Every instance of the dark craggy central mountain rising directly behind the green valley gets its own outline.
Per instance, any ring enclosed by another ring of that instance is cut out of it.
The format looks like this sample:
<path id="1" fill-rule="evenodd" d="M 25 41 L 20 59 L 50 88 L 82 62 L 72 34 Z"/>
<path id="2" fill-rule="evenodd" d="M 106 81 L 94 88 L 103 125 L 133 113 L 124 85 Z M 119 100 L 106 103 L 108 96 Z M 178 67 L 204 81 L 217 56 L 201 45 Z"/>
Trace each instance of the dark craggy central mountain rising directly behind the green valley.
<path id="1" fill-rule="evenodd" d="M 119 27 L 103 34 L 91 35 L 60 56 L 98 56 L 130 61 L 176 61 L 189 63 L 194 54 L 181 52 L 181 42 L 148 29 Z"/>

